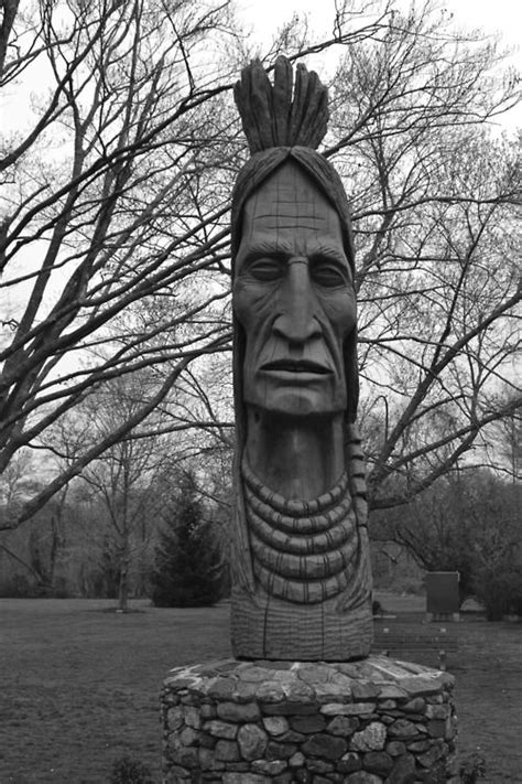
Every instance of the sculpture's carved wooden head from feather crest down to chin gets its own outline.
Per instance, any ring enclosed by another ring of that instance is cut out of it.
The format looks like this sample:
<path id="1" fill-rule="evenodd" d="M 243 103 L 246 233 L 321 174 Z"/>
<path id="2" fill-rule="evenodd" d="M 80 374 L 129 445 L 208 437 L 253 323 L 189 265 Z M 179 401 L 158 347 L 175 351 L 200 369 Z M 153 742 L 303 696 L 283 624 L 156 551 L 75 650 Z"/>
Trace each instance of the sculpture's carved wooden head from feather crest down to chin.
<path id="1" fill-rule="evenodd" d="M 292 67 L 280 57 L 273 87 L 254 62 L 236 100 L 253 152 L 232 196 L 236 408 L 344 412 L 352 422 L 358 370 L 348 202 L 337 172 L 314 149 L 326 132 L 326 88 L 302 65 L 293 86 Z"/>

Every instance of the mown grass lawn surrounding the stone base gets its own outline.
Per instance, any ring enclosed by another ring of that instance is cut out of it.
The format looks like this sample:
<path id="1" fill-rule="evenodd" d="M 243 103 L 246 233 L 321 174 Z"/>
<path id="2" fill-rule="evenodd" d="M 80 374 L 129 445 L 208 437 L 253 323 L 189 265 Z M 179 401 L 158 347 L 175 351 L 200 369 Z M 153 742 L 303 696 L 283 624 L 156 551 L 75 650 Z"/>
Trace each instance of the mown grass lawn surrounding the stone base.
<path id="1" fill-rule="evenodd" d="M 401 620 L 422 621 L 422 599 L 379 598 Z M 122 615 L 112 606 L 0 599 L 0 784 L 107 783 L 124 755 L 160 782 L 162 679 L 176 665 L 230 655 L 229 608 L 137 601 L 138 612 Z M 459 749 L 486 759 L 488 784 L 520 784 L 522 624 L 466 615 L 458 635 L 448 669 L 457 677 Z M 435 666 L 435 654 L 424 662 Z"/>

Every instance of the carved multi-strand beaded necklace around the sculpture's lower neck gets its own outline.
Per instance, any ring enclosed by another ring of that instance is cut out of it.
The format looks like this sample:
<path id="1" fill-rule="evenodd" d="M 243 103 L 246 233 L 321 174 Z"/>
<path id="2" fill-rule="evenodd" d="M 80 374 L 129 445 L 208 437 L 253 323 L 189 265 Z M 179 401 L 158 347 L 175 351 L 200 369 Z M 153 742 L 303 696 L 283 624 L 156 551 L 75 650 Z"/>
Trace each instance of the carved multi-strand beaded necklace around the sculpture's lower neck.
<path id="1" fill-rule="evenodd" d="M 346 473 L 327 493 L 291 501 L 241 465 L 253 571 L 264 590 L 314 604 L 347 587 L 357 556 L 357 523 Z"/>

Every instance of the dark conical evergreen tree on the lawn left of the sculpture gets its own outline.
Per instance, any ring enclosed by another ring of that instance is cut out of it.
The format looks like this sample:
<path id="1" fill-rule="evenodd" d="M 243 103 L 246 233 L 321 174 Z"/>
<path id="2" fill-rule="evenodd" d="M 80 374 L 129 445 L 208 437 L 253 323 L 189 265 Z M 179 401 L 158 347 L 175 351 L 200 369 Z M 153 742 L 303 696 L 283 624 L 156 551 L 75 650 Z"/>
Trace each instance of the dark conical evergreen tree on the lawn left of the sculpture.
<path id="1" fill-rule="evenodd" d="M 205 606 L 221 597 L 222 558 L 211 523 L 204 518 L 194 477 L 182 481 L 168 505 L 151 576 L 155 606 Z"/>

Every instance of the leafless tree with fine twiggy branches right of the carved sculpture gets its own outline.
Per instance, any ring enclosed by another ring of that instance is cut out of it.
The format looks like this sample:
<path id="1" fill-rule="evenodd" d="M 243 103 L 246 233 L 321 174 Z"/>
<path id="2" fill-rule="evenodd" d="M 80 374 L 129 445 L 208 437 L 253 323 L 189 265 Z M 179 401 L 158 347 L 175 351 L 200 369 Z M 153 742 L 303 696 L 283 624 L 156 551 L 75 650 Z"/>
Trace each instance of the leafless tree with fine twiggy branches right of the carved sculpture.
<path id="1" fill-rule="evenodd" d="M 429 2 L 354 46 L 335 79 L 335 155 L 358 246 L 362 426 L 373 507 L 403 503 L 520 409 L 496 390 L 519 350 L 520 100 L 489 41 Z M 480 447 L 480 450 L 477 449 Z M 401 477 L 402 481 L 398 481 Z"/>

